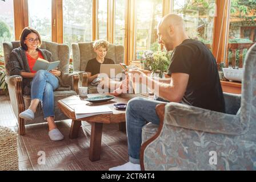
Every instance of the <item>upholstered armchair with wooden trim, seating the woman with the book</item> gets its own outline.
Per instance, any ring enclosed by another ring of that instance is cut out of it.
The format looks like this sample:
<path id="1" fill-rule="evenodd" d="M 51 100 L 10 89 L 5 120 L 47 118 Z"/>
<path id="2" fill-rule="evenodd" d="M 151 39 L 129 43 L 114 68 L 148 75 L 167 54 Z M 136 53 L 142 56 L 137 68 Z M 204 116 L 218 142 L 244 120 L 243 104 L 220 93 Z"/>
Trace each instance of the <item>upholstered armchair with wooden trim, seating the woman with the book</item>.
<path id="1" fill-rule="evenodd" d="M 19 41 L 3 43 L 5 64 L 7 64 L 9 61 L 11 51 L 17 47 L 19 47 Z M 55 120 L 59 121 L 62 119 L 68 119 L 65 114 L 62 114 L 61 110 L 58 109 L 57 101 L 78 93 L 79 77 L 77 74 L 69 73 L 69 47 L 65 44 L 57 44 L 53 42 L 43 41 L 41 48 L 47 49 L 52 53 L 53 61 L 61 61 L 58 67 L 58 69 L 62 72 L 61 81 L 63 85 L 69 85 L 71 87 L 71 89 L 60 87 L 54 92 Z M 25 124 L 27 125 L 31 123 L 45 122 L 45 119 L 43 118 L 43 111 L 39 105 L 33 121 L 19 118 L 19 113 L 29 107 L 31 98 L 30 96 L 22 94 L 22 77 L 18 75 L 10 76 L 9 71 L 6 71 L 7 76 L 5 78 L 5 81 L 8 84 L 11 106 L 13 107 L 15 117 L 18 120 L 19 134 L 24 135 Z"/>

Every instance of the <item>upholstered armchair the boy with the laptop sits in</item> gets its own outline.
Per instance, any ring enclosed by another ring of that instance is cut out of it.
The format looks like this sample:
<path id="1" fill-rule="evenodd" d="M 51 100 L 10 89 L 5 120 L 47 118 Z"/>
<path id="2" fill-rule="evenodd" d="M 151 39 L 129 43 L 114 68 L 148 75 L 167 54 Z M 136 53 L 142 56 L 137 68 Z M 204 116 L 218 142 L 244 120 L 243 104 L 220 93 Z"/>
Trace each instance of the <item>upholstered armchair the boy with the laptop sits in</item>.
<path id="1" fill-rule="evenodd" d="M 124 63 L 125 48 L 121 45 L 109 44 L 106 58 L 112 59 L 115 64 Z M 97 86 L 87 85 L 87 74 L 85 72 L 87 62 L 94 59 L 97 55 L 93 49 L 93 42 L 73 43 L 73 66 L 74 73 L 83 72 L 80 74 L 83 86 L 88 86 L 88 93 L 98 93 Z"/>

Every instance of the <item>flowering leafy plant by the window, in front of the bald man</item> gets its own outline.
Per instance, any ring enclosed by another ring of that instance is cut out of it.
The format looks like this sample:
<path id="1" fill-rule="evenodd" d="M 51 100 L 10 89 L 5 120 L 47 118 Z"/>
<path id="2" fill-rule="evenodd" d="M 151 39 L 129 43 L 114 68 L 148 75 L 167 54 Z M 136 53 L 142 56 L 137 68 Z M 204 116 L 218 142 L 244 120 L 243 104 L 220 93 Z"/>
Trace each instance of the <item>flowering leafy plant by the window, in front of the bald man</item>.
<path id="1" fill-rule="evenodd" d="M 166 72 L 170 65 L 170 55 L 168 52 L 163 51 L 146 51 L 142 59 L 146 61 L 146 66 L 153 73 L 159 73 L 159 77 L 163 76 L 163 72 Z"/>

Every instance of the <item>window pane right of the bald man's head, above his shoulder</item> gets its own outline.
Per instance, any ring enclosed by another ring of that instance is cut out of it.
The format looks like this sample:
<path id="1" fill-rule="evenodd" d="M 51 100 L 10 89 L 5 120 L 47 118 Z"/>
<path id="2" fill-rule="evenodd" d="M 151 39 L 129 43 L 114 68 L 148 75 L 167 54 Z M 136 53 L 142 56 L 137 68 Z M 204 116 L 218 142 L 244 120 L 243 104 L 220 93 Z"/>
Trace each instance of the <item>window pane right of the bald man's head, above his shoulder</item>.
<path id="1" fill-rule="evenodd" d="M 209 48 L 213 43 L 215 0 L 174 0 L 174 13 L 185 20 L 187 34 Z"/>

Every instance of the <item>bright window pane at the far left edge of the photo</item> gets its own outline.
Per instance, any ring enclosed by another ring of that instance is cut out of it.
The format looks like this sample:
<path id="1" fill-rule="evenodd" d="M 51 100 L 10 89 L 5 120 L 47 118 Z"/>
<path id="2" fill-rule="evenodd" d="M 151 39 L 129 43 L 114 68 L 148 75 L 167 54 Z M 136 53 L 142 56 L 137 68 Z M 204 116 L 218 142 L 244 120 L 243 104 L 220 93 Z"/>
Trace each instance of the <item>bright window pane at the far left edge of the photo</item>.
<path id="1" fill-rule="evenodd" d="M 14 40 L 13 1 L 0 1 L 0 55 L 3 42 Z"/>

